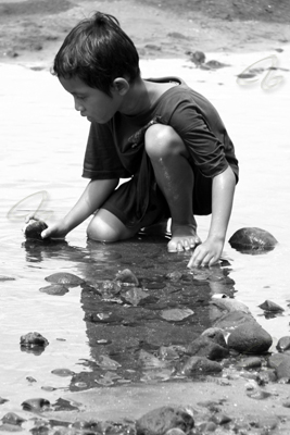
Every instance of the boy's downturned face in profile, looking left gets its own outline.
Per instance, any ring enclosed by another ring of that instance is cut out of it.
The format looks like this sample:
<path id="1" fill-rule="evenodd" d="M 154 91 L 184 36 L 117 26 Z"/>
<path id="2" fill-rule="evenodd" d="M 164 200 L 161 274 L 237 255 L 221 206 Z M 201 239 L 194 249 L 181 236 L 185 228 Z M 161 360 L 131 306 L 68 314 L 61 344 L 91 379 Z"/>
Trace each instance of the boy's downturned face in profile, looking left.
<path id="1" fill-rule="evenodd" d="M 80 78 L 59 77 L 64 89 L 70 92 L 75 100 L 75 109 L 81 116 L 87 116 L 88 121 L 96 121 L 104 124 L 110 121 L 119 110 L 122 104 L 121 95 L 113 89 L 112 97 L 86 85 Z"/>

